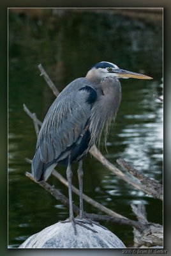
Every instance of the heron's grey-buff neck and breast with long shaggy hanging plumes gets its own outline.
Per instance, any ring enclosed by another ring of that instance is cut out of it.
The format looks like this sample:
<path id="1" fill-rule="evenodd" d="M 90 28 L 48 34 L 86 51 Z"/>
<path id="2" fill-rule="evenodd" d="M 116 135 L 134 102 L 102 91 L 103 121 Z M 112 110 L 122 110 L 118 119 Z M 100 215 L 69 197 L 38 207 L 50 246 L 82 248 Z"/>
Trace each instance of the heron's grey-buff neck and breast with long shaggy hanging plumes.
<path id="1" fill-rule="evenodd" d="M 108 127 L 115 118 L 121 101 L 121 84 L 118 79 L 108 77 L 98 84 L 97 92 L 98 97 L 91 109 L 89 126 L 92 145 L 100 142 L 103 129 L 106 143 Z"/>

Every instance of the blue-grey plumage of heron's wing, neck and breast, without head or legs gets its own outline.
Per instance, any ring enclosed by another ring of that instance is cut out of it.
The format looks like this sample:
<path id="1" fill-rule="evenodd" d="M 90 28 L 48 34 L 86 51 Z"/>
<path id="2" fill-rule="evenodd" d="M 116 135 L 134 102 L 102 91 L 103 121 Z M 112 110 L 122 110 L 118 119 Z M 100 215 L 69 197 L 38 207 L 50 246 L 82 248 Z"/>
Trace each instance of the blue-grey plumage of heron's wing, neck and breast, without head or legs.
<path id="1" fill-rule="evenodd" d="M 108 86 L 105 86 L 106 83 Z M 89 91 L 80 90 L 86 86 L 96 92 L 96 102 L 92 104 L 87 102 L 90 97 Z M 85 124 L 89 120 L 91 141 L 89 141 L 89 147 L 85 148 L 84 154 L 86 154 L 89 148 L 100 140 L 105 126 L 105 134 L 107 134 L 108 124 L 115 116 L 120 100 L 121 85 L 114 78 L 103 79 L 98 85 L 87 78 L 78 78 L 68 84 L 48 110 L 41 126 L 34 156 L 33 175 L 35 179 L 40 179 L 43 164 L 49 167 L 48 163 L 53 164 L 54 159 L 59 162 L 69 156 L 70 150 L 66 151 L 66 149 L 84 134 Z M 81 157 L 82 155 L 78 159 Z M 45 173 L 45 170 L 43 172 Z M 47 180 L 48 177 L 44 178 Z"/>

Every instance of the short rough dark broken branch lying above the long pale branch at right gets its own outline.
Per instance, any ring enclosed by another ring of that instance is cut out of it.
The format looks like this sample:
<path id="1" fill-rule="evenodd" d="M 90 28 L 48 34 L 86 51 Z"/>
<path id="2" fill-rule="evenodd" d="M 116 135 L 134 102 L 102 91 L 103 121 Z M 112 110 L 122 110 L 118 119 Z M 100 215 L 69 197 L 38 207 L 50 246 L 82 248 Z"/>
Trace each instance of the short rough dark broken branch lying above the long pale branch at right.
<path id="1" fill-rule="evenodd" d="M 119 158 L 117 159 L 117 163 L 123 167 L 125 170 L 127 170 L 131 175 L 136 177 L 140 182 L 145 184 L 145 186 L 151 186 L 151 189 L 154 189 L 154 191 L 158 192 L 160 195 L 163 195 L 163 186 L 157 181 L 152 180 L 148 177 L 145 177 L 145 175 L 141 172 L 139 172 L 137 169 L 133 168 L 130 164 L 128 164 L 124 159 Z"/>

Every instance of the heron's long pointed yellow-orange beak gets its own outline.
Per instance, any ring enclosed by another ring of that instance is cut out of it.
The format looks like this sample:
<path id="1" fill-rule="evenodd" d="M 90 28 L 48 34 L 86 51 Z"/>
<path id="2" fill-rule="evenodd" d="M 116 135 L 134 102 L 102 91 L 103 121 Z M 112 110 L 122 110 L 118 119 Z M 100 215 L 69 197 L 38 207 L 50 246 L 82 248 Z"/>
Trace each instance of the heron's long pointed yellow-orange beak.
<path id="1" fill-rule="evenodd" d="M 127 71 L 127 70 L 123 70 L 121 68 L 117 68 L 114 70 L 114 73 L 117 74 L 117 77 L 121 77 L 121 78 L 137 78 L 137 79 L 153 79 L 150 76 L 145 76 L 143 74 L 138 74 L 135 72 L 131 72 L 131 71 Z"/>

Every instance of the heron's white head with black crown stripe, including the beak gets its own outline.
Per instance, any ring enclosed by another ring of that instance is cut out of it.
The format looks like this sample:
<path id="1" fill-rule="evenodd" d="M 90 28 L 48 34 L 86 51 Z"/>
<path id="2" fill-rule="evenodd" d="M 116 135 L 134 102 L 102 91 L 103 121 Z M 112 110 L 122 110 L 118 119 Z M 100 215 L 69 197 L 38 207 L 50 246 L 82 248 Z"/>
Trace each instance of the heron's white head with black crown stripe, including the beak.
<path id="1" fill-rule="evenodd" d="M 94 81 L 96 79 L 101 80 L 108 77 L 113 77 L 116 79 L 119 79 L 119 78 L 126 79 L 130 77 L 137 78 L 137 79 L 152 79 L 152 77 L 145 76 L 143 74 L 138 74 L 128 70 L 123 70 L 117 67 L 117 65 L 107 61 L 101 61 L 99 63 L 96 63 L 96 65 L 91 67 L 86 77 L 91 80 L 94 79 Z"/>

